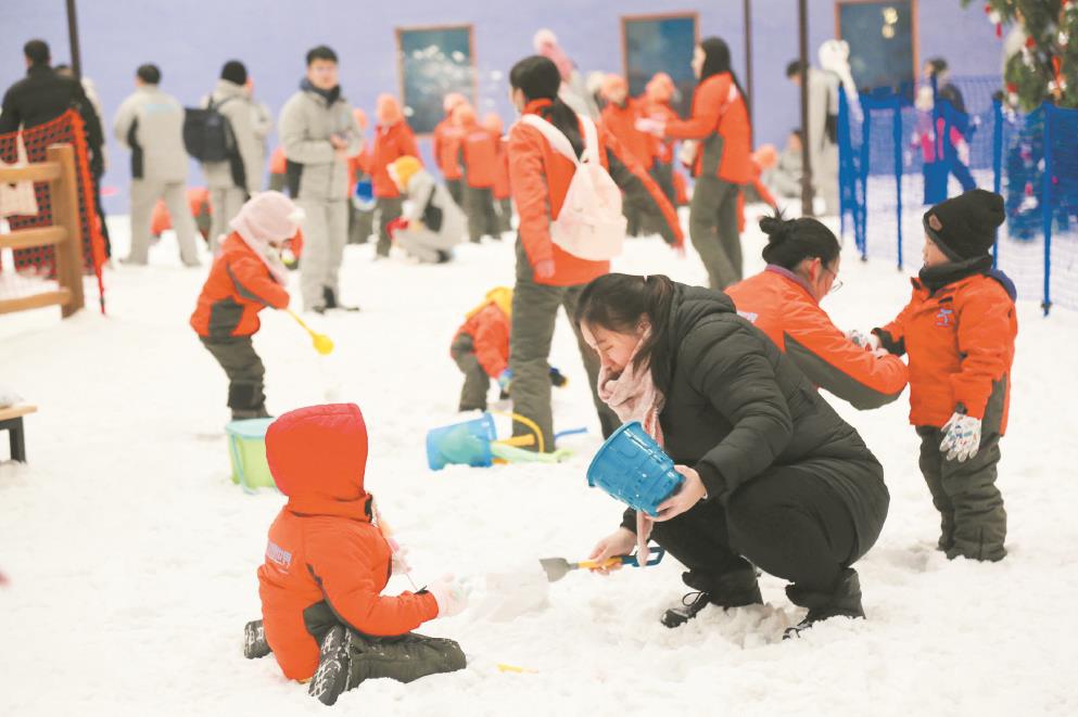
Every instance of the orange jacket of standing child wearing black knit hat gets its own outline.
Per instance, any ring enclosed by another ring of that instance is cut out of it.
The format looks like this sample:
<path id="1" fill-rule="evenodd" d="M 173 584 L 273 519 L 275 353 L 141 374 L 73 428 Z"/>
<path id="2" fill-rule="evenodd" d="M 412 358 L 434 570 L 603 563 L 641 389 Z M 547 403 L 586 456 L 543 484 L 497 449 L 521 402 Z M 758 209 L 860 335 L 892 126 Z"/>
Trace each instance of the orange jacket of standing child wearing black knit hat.
<path id="1" fill-rule="evenodd" d="M 873 331 L 892 354 L 910 354 L 910 423 L 942 427 L 959 404 L 975 419 L 997 389 L 1003 393 L 1000 435 L 1011 404 L 1011 364 L 1018 335 L 1014 284 L 997 271 L 974 274 L 936 292 L 913 279 L 901 313 Z"/>

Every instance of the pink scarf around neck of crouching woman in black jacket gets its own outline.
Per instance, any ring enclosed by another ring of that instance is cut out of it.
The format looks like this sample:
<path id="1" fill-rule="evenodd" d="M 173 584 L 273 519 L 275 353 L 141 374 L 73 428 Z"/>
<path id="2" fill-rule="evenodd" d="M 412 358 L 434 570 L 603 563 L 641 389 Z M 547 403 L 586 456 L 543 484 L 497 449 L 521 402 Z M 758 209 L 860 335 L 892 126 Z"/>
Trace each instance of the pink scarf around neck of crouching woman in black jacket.
<path id="1" fill-rule="evenodd" d="M 613 372 L 606 367 L 599 368 L 598 389 L 599 398 L 617 413 L 622 423 L 639 421 L 644 431 L 655 438 L 655 441 L 663 446 L 662 426 L 659 424 L 659 413 L 667 402 L 667 397 L 656 388 L 651 379 L 651 369 L 648 366 L 636 368 L 634 360 L 641 346 L 650 336 L 650 330 L 645 331 L 639 343 L 633 349 L 633 355 L 629 357 L 629 363 L 621 372 L 614 376 Z M 648 549 L 648 538 L 651 537 L 652 521 L 643 511 L 636 511 L 636 560 L 641 565 L 647 562 L 650 550 Z"/>

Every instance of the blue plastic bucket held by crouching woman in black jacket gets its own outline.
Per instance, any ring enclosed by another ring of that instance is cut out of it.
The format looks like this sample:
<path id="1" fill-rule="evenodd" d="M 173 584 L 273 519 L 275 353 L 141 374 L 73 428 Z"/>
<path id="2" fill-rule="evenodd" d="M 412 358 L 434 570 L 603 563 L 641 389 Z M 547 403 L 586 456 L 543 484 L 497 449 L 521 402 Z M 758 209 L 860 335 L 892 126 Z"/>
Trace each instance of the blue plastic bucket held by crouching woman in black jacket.
<path id="1" fill-rule="evenodd" d="M 644 431 L 639 421 L 614 431 L 587 466 L 587 485 L 598 486 L 651 516 L 682 481 L 674 462 Z"/>

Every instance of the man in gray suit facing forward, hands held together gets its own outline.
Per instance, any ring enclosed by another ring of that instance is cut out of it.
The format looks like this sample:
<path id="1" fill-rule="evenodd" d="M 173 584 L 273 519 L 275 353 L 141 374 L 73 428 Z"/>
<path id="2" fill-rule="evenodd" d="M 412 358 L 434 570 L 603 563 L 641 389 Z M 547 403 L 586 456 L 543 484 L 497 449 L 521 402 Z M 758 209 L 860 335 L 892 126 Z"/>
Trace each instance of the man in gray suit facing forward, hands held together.
<path id="1" fill-rule="evenodd" d="M 348 239 L 347 158 L 359 151 L 359 128 L 341 97 L 337 53 L 307 53 L 307 76 L 281 110 L 289 193 L 306 218 L 300 287 L 313 311 L 338 308 L 338 274 Z"/>

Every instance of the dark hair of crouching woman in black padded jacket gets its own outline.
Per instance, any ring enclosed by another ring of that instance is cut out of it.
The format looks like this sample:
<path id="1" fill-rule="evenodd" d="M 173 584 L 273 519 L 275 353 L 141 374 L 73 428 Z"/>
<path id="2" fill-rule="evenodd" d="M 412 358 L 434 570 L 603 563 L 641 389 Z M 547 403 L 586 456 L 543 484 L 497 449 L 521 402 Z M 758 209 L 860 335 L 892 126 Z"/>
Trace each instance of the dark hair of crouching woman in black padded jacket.
<path id="1" fill-rule="evenodd" d="M 674 293 L 674 282 L 662 274 L 608 273 L 581 292 L 573 321 L 578 327 L 586 323 L 632 333 L 646 317 L 651 334 L 637 351 L 634 363 L 636 368 L 648 366 L 655 385 L 665 390 L 671 374 L 670 315 Z"/>

